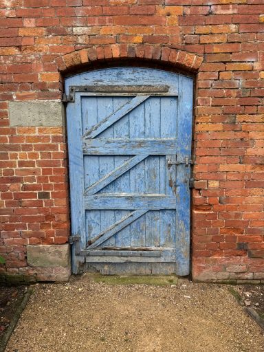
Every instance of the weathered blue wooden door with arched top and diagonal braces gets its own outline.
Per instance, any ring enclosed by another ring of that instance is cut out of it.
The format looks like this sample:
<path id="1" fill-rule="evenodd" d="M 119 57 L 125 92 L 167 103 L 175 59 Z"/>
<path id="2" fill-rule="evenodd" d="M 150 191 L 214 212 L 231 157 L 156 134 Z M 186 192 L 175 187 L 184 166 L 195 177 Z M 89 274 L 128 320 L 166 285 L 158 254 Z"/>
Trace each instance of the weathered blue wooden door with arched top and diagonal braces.
<path id="1" fill-rule="evenodd" d="M 73 272 L 188 274 L 192 79 L 116 67 L 66 94 Z"/>

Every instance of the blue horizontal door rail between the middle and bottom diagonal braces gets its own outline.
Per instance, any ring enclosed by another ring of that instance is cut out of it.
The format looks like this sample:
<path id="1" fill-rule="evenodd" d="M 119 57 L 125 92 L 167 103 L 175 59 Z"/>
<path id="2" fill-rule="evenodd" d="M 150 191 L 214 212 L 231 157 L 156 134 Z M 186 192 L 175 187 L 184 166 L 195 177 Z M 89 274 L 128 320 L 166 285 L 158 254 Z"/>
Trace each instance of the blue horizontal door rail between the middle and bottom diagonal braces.
<path id="1" fill-rule="evenodd" d="M 175 208 L 176 198 L 166 195 L 107 193 L 85 196 L 85 209 L 87 210 L 159 210 Z"/>

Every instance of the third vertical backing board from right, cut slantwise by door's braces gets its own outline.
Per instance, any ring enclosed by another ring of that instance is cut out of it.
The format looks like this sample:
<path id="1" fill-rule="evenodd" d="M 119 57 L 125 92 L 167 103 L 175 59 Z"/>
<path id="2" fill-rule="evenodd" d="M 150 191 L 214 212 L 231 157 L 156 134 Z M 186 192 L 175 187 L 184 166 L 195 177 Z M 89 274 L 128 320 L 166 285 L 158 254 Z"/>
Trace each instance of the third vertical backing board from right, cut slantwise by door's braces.
<path id="1" fill-rule="evenodd" d="M 146 100 L 148 101 L 148 100 Z M 145 136 L 145 104 L 129 113 L 130 138 L 143 138 Z M 144 193 L 146 189 L 144 161 L 130 170 L 130 192 Z M 131 245 L 145 245 L 146 216 L 143 215 L 130 225 Z"/>

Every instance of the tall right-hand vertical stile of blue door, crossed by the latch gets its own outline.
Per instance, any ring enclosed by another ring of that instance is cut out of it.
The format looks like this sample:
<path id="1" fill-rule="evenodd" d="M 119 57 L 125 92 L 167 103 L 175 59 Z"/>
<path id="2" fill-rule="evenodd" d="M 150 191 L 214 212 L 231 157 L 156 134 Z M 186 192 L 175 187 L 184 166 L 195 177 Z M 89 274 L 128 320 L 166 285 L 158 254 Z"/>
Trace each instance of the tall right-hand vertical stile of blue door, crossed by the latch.
<path id="1" fill-rule="evenodd" d="M 179 76 L 177 118 L 177 158 L 191 157 L 192 88 L 191 78 Z M 190 165 L 177 166 L 176 259 L 177 274 L 188 275 L 190 266 Z"/>

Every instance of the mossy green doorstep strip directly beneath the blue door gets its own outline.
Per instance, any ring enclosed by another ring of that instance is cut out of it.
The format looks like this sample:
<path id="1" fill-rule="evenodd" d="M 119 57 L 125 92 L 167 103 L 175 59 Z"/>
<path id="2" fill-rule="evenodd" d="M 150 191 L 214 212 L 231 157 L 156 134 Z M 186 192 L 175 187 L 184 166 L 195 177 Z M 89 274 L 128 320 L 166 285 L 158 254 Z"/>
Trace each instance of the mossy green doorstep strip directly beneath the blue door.
<path id="1" fill-rule="evenodd" d="M 93 275 L 93 280 L 96 283 L 106 283 L 107 285 L 176 285 L 178 282 L 177 276 L 129 276 L 129 275 Z"/>

